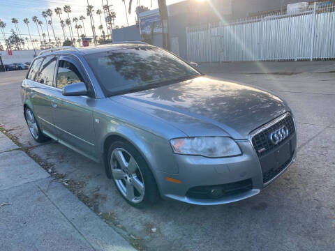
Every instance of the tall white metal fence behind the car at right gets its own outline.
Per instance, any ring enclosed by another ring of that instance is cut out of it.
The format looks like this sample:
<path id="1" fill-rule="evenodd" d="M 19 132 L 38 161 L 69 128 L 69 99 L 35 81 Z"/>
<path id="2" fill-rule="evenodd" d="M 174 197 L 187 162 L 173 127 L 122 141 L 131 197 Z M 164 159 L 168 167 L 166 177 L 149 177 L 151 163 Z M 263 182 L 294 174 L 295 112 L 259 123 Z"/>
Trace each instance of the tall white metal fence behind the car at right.
<path id="1" fill-rule="evenodd" d="M 335 6 L 188 27 L 188 61 L 335 59 Z"/>

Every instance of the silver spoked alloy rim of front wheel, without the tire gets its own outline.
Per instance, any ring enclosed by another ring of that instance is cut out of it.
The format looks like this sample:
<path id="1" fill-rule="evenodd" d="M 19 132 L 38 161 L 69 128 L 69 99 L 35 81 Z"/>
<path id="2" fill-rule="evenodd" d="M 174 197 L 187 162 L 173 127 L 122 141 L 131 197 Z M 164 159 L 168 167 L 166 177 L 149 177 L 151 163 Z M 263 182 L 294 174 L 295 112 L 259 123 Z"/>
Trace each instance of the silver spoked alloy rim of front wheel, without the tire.
<path id="1" fill-rule="evenodd" d="M 144 178 L 135 158 L 125 149 L 114 149 L 110 158 L 110 167 L 121 194 L 128 201 L 140 203 L 144 198 Z"/>

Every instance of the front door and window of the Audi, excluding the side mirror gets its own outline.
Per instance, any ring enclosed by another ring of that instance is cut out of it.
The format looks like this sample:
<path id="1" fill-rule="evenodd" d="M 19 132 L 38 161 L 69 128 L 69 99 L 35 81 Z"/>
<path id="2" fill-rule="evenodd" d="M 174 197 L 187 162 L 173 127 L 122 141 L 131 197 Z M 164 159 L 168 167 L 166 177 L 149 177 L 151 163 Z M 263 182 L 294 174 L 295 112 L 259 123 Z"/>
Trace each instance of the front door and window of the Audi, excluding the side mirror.
<path id="1" fill-rule="evenodd" d="M 61 89 L 68 84 L 84 82 L 88 96 L 63 96 Z M 81 64 L 71 56 L 60 56 L 57 69 L 57 95 L 54 101 L 54 123 L 57 135 L 75 149 L 94 157 L 96 155 L 93 109 L 96 105 L 94 91 Z"/>

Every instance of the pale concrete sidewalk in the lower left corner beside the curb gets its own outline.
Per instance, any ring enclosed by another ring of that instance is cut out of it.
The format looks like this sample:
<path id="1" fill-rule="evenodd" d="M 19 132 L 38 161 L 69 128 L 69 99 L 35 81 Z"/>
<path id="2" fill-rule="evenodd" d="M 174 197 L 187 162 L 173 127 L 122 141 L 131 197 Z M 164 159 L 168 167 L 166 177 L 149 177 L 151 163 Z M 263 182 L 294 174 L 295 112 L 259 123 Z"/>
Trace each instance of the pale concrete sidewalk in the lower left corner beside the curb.
<path id="1" fill-rule="evenodd" d="M 0 132 L 0 250 L 135 250 Z"/>

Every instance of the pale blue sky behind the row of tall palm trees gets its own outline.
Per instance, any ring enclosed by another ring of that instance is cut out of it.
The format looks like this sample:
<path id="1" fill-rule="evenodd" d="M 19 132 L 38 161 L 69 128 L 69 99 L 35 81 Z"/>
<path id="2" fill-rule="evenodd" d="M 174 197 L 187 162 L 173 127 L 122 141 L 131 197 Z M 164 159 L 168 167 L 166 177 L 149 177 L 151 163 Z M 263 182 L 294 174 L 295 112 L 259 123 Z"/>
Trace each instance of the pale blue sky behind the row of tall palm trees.
<path id="1" fill-rule="evenodd" d="M 89 0 L 89 4 L 94 6 L 94 10 L 103 9 L 103 4 L 107 3 L 107 0 Z M 128 12 L 128 3 L 129 0 L 126 1 L 126 7 Z M 182 0 L 167 0 L 167 4 L 176 3 L 178 1 Z M 114 9 L 115 13 L 117 14 L 115 24 L 118 26 L 127 26 L 126 22 L 126 12 L 124 8 L 124 3 L 122 0 L 108 0 L 108 3 L 110 5 L 113 5 L 112 8 Z M 129 25 L 135 24 L 135 8 L 137 4 L 140 3 L 142 6 L 147 6 L 150 9 L 158 8 L 157 0 L 152 0 L 152 7 L 151 7 L 151 0 L 133 0 L 133 8 L 131 11 L 131 14 L 128 13 L 128 23 Z M 22 37 L 29 37 L 28 35 L 28 29 L 27 25 L 24 24 L 23 19 L 25 17 L 29 18 L 30 24 L 29 29 L 31 31 L 32 38 L 38 39 L 38 31 L 36 28 L 36 24 L 32 22 L 31 17 L 36 15 L 40 21 L 43 22 L 43 33 L 47 34 L 47 27 L 45 25 L 45 19 L 42 17 L 41 13 L 43 10 L 47 10 L 48 8 L 52 9 L 53 15 L 53 24 L 54 24 L 54 31 L 56 33 L 56 36 L 63 36 L 61 31 L 61 26 L 59 24 L 59 17 L 56 16 L 56 13 L 54 13 L 54 8 L 56 7 L 63 7 L 64 5 L 71 6 L 72 13 L 70 13 L 70 19 L 72 20 L 73 17 L 77 17 L 79 19 L 80 15 L 84 15 L 86 17 L 86 20 L 84 20 L 84 28 L 87 33 L 87 36 L 91 36 L 92 30 L 91 30 L 91 24 L 89 22 L 89 17 L 86 15 L 86 6 L 87 6 L 87 0 L 0 0 L 0 20 L 6 23 L 6 36 L 10 36 L 10 29 L 15 29 L 14 24 L 12 24 L 11 19 L 12 17 L 17 18 L 19 21 L 19 29 L 20 33 L 22 34 Z M 67 14 L 64 13 L 61 15 L 62 20 L 66 20 Z M 103 20 L 103 15 L 101 15 L 101 18 Z M 96 35 L 100 36 L 100 31 L 98 30 L 98 26 L 101 24 L 99 16 L 94 13 L 94 23 L 96 26 Z M 82 24 L 80 22 L 80 24 Z M 105 23 L 103 20 L 103 26 L 104 30 L 106 32 Z M 73 24 L 74 29 L 74 24 Z M 66 31 L 68 32 L 68 27 L 66 27 Z M 49 32 L 50 36 L 52 35 L 52 31 L 49 26 Z M 73 30 L 73 33 L 75 33 L 75 36 L 77 36 L 77 32 Z M 0 43 L 3 44 L 3 36 L 0 34 Z"/>

